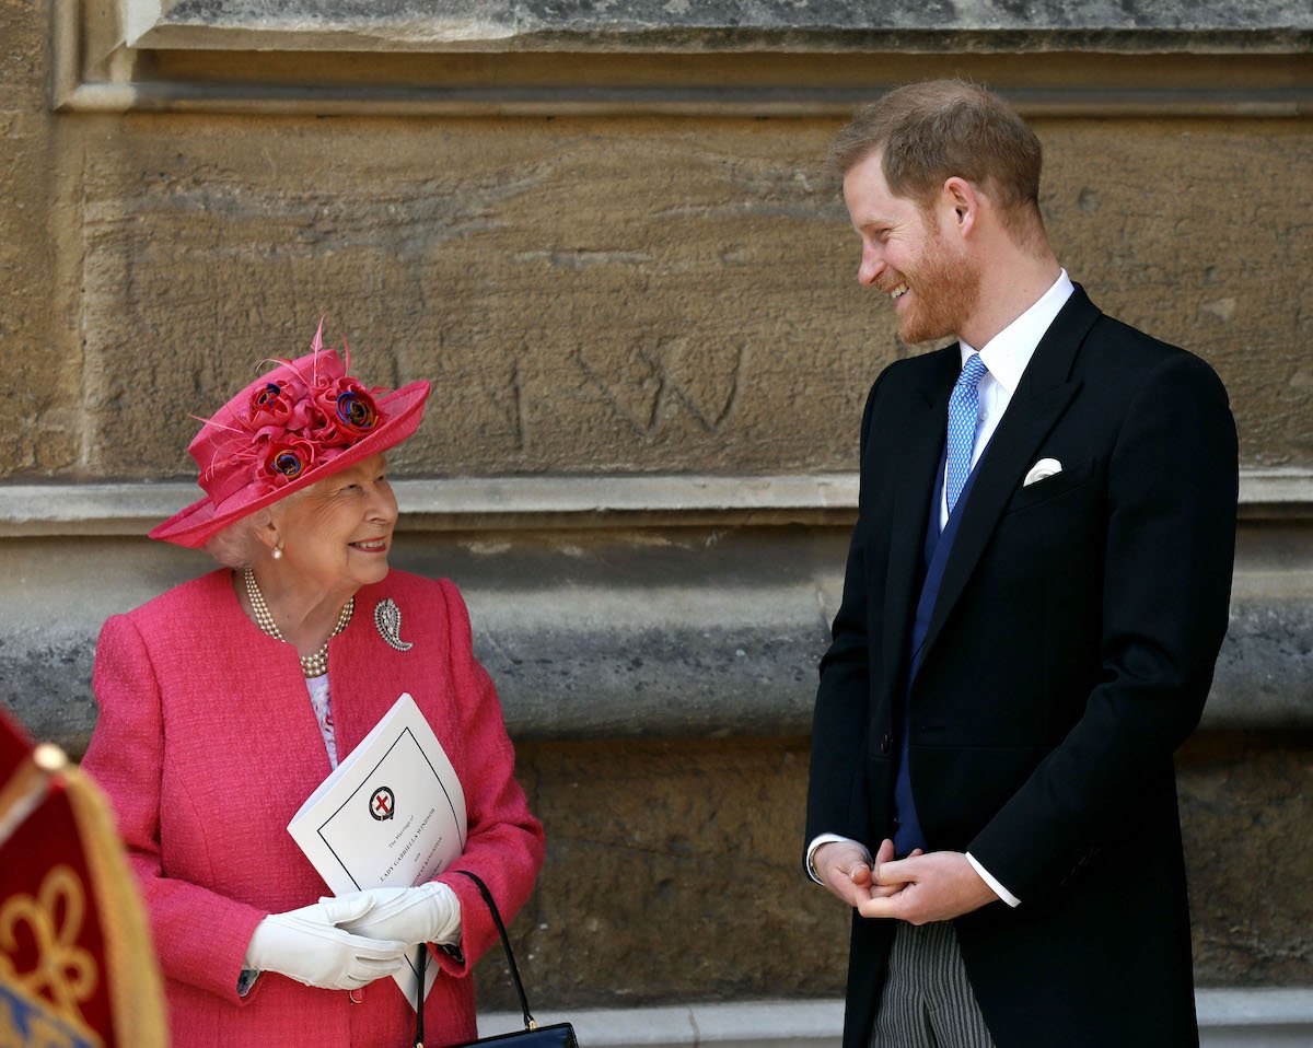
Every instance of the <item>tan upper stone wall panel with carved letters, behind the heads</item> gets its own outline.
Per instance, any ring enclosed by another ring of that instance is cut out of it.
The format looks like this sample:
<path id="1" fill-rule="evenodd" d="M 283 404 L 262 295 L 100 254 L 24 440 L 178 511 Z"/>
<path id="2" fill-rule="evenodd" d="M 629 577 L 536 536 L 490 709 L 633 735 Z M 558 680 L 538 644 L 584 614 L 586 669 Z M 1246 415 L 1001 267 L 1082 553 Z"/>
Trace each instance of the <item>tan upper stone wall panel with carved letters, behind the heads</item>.
<path id="1" fill-rule="evenodd" d="M 1302 125 L 1036 125 L 1071 274 L 1215 364 L 1247 464 L 1313 461 L 1313 290 L 1271 278 L 1300 267 Z M 83 432 L 45 411 L 25 432 L 79 437 L 93 475 L 185 475 L 188 412 L 328 311 L 373 381 L 435 380 L 402 473 L 851 468 L 865 390 L 907 349 L 853 281 L 832 130 L 126 118 L 76 173 Z"/>

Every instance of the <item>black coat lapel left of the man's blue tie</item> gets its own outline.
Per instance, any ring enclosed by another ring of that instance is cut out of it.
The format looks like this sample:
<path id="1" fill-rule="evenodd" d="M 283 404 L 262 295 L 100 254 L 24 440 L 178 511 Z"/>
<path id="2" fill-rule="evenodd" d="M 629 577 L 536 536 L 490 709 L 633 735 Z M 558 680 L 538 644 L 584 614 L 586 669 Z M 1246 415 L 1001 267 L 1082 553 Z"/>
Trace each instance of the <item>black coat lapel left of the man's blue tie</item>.
<path id="1" fill-rule="evenodd" d="M 957 344 L 930 355 L 918 377 L 894 449 L 897 482 L 889 507 L 889 566 L 884 607 L 884 695 L 893 695 L 907 654 L 911 612 L 918 598 L 926 515 L 935 490 L 935 466 L 944 447 L 948 397 L 961 370 Z"/>

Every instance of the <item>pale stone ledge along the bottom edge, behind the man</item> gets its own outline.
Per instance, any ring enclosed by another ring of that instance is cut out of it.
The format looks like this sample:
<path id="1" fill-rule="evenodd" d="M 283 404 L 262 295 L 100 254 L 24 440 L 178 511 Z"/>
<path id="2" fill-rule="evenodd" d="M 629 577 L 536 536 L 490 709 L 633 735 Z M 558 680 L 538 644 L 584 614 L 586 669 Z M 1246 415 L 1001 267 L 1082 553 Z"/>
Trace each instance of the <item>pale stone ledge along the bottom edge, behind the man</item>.
<path id="1" fill-rule="evenodd" d="M 1200 1048 L 1285 1048 L 1313 1043 L 1313 989 L 1201 989 Z M 842 1001 L 755 1001 L 646 1009 L 536 1011 L 538 1026 L 570 1022 L 588 1048 L 836 1048 Z M 479 1016 L 479 1036 L 523 1030 L 516 1013 Z"/>

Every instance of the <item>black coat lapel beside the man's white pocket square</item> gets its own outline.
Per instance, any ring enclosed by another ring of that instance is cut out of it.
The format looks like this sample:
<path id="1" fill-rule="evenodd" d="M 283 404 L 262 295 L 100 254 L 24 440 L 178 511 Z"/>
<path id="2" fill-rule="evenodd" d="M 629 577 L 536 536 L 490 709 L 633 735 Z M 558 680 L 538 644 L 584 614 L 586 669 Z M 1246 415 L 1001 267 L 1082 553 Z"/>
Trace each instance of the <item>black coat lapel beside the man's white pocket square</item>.
<path id="1" fill-rule="evenodd" d="M 1077 285 L 1022 373 L 1016 394 L 976 468 L 972 494 L 962 507 L 962 521 L 926 632 L 923 663 L 989 545 L 1003 508 L 1033 461 L 1032 456 L 1079 389 L 1081 382 L 1070 378 L 1071 366 L 1099 315 Z M 947 399 L 944 411 L 947 424 Z"/>

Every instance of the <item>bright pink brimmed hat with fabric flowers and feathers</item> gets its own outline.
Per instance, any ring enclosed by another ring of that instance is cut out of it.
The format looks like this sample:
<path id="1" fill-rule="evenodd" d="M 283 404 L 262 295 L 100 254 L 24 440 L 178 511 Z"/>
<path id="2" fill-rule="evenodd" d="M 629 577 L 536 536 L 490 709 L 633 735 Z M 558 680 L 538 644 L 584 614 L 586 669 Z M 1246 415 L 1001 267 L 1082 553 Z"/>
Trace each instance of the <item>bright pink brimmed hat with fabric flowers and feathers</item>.
<path id="1" fill-rule="evenodd" d="M 309 355 L 281 361 L 205 422 L 186 448 L 205 498 L 151 538 L 204 546 L 256 510 L 400 444 L 419 426 L 428 391 L 428 382 L 366 389 L 323 349 L 320 323 Z"/>

